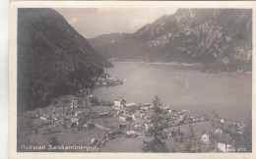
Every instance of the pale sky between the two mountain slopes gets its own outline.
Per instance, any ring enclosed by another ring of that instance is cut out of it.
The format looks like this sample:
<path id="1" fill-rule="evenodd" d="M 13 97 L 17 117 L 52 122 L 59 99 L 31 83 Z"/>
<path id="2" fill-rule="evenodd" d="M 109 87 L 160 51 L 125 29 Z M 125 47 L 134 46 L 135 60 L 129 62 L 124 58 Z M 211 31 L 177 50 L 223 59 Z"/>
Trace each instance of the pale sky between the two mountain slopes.
<path id="1" fill-rule="evenodd" d="M 67 22 L 86 38 L 100 34 L 132 33 L 163 15 L 171 15 L 176 9 L 166 8 L 86 8 L 55 9 Z"/>

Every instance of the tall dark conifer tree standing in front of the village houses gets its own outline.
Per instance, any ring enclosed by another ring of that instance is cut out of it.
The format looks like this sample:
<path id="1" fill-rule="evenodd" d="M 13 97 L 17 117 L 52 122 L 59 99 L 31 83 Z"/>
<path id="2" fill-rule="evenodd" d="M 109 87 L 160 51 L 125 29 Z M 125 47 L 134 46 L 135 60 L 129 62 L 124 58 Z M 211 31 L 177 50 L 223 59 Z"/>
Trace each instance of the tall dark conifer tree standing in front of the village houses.
<path id="1" fill-rule="evenodd" d="M 145 146 L 143 147 L 143 150 L 145 152 L 167 152 L 166 144 L 161 140 L 161 134 L 164 126 L 164 115 L 160 109 L 160 98 L 158 96 L 155 97 L 153 104 L 153 115 L 149 118 L 149 124 L 151 127 L 147 133 L 154 138 L 151 141 L 144 141 Z"/>

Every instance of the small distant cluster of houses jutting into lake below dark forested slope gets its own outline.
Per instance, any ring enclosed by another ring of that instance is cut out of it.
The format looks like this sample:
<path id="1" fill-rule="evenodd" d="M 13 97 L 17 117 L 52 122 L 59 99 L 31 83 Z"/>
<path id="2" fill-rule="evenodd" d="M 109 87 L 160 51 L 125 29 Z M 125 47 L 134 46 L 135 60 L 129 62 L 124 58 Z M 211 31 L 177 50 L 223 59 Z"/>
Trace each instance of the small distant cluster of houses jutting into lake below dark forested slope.
<path id="1" fill-rule="evenodd" d="M 124 80 L 115 79 L 110 77 L 108 74 L 103 75 L 102 77 L 96 79 L 96 86 L 115 86 L 123 84 Z"/>

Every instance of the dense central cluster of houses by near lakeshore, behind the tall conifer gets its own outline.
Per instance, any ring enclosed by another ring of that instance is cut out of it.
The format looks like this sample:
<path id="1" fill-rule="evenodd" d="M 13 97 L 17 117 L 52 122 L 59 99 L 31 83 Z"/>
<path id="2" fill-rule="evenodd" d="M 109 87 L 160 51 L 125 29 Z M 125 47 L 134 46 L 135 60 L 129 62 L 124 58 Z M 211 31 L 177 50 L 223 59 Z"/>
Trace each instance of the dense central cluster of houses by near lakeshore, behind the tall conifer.
<path id="1" fill-rule="evenodd" d="M 148 132 L 152 124 L 149 119 L 154 115 L 154 105 L 145 103 L 138 105 L 134 102 L 128 103 L 124 97 L 118 97 L 113 102 L 112 109 L 116 111 L 115 117 L 122 122 L 132 125 L 131 130 L 136 132 Z M 188 110 L 177 111 L 168 105 L 160 105 L 160 109 L 165 113 L 165 123 L 168 127 L 180 126 L 188 123 L 205 121 L 203 117 L 193 117 Z"/>

